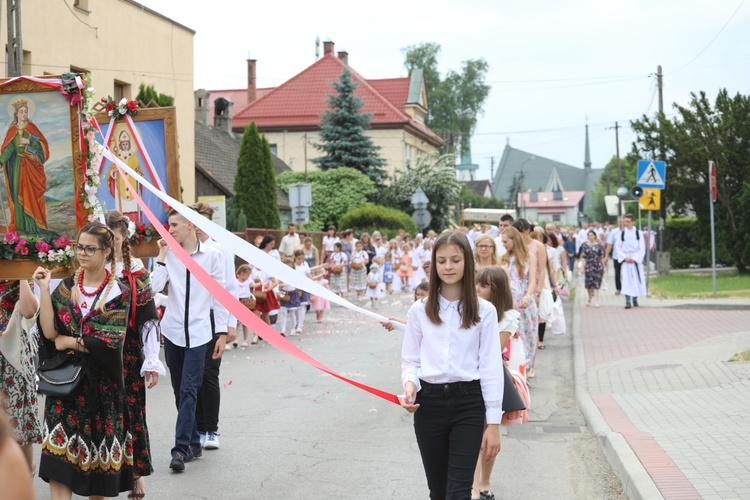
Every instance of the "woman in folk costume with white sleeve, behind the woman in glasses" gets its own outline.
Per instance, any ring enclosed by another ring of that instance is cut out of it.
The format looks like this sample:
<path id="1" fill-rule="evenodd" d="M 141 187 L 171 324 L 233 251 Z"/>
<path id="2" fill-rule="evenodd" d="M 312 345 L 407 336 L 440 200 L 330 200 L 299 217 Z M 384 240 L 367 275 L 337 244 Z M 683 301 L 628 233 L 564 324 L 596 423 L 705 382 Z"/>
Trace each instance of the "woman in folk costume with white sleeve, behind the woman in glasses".
<path id="1" fill-rule="evenodd" d="M 115 236 L 116 276 L 132 292 L 122 353 L 126 402 L 130 417 L 129 430 L 133 436 L 135 486 L 129 498 L 143 498 L 143 478 L 154 472 L 146 425 L 146 383 L 149 389 L 154 387 L 159 381 L 159 375 L 165 376 L 167 372 L 159 360 L 161 332 L 151 290 L 151 278 L 141 260 L 130 256 L 130 224 L 130 219 L 117 210 L 107 213 L 107 226 Z"/>

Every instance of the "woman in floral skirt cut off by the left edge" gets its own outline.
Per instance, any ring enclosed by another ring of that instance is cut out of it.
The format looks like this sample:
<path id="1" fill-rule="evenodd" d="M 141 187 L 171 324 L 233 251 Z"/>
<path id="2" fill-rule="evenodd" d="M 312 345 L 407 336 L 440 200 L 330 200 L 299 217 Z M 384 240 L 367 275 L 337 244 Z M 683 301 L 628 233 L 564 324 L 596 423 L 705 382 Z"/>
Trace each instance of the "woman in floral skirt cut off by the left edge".
<path id="1" fill-rule="evenodd" d="M 31 470 L 32 445 L 42 442 L 42 425 L 31 361 L 36 338 L 21 318 L 31 320 L 38 307 L 28 281 L 0 281 L 0 395 L 5 395 L 5 411 Z"/>

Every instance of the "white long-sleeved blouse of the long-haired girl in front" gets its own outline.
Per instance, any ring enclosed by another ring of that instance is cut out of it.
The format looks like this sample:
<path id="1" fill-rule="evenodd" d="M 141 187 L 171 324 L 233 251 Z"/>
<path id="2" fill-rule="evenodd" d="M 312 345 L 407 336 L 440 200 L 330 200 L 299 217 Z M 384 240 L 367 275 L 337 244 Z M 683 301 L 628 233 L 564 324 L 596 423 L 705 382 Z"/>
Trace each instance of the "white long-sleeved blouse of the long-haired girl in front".
<path id="1" fill-rule="evenodd" d="M 401 350 L 401 382 L 420 379 L 431 384 L 479 380 L 488 424 L 499 424 L 503 415 L 503 365 L 497 334 L 495 306 L 479 301 L 479 323 L 461 328 L 460 301 L 439 296 L 440 319 L 435 325 L 427 317 L 427 300 L 419 300 L 409 310 Z"/>

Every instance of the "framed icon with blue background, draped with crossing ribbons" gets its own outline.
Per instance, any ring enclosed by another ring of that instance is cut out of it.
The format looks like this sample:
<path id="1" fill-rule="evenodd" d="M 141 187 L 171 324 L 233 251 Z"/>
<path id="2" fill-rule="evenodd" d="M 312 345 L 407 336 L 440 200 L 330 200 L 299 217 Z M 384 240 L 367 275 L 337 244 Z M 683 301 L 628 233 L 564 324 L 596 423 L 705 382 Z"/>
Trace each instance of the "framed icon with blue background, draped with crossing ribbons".
<path id="1" fill-rule="evenodd" d="M 99 142 L 106 144 L 114 156 L 151 185 L 173 198 L 180 198 L 174 107 L 139 108 L 136 116 L 120 120 L 112 120 L 102 113 L 97 115 L 97 120 L 103 134 L 97 138 Z M 119 210 L 139 225 L 166 224 L 169 207 L 132 175 L 123 174 L 111 161 L 102 161 L 98 193 L 102 206 L 106 210 Z M 130 183 L 159 221 L 147 220 L 126 183 Z"/>

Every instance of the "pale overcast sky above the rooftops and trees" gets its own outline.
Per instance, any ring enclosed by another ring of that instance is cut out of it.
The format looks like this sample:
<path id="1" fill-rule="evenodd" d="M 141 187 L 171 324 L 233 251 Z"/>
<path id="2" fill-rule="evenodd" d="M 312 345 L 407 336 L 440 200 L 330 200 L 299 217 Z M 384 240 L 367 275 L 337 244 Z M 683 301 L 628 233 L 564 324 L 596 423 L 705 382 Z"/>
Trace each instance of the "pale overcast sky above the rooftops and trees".
<path id="1" fill-rule="evenodd" d="M 631 149 L 630 120 L 750 93 L 750 2 L 746 0 L 380 0 L 364 2 L 177 2 L 140 0 L 195 30 L 195 88 L 273 87 L 315 62 L 315 40 L 330 39 L 368 79 L 407 76 L 402 49 L 441 46 L 439 70 L 483 58 L 491 86 L 472 137 L 477 179 L 489 179 L 506 141 L 536 156 L 583 167 L 585 124 L 591 161 L 603 168 Z M 209 8 L 210 7 L 210 8 Z M 320 52 L 322 54 L 322 43 Z"/>

